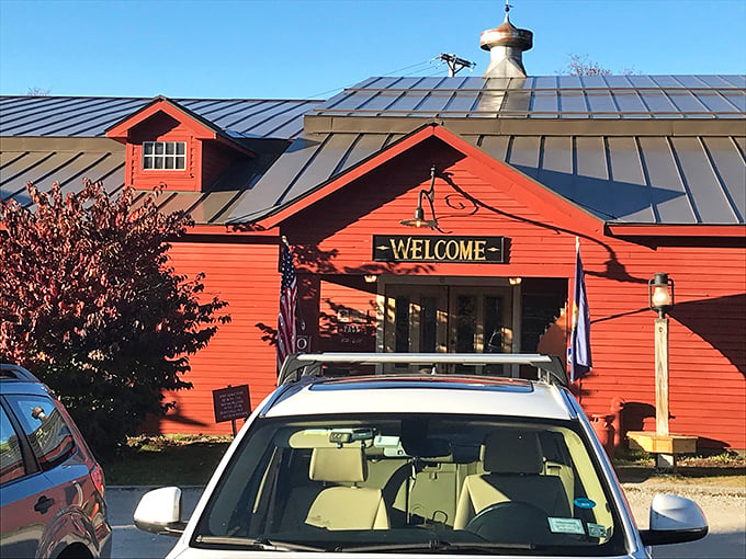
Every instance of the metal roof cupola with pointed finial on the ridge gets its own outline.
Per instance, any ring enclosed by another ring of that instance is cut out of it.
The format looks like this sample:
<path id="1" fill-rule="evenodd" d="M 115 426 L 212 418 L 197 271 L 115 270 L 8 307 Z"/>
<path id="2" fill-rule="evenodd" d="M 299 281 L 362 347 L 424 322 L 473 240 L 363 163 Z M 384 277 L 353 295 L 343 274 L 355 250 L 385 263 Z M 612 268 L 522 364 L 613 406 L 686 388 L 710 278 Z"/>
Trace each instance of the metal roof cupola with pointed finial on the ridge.
<path id="1" fill-rule="evenodd" d="M 533 32 L 519 30 L 510 23 L 510 5 L 505 4 L 505 21 L 499 27 L 482 32 L 479 46 L 489 50 L 485 78 L 525 78 L 523 50 L 533 46 Z"/>

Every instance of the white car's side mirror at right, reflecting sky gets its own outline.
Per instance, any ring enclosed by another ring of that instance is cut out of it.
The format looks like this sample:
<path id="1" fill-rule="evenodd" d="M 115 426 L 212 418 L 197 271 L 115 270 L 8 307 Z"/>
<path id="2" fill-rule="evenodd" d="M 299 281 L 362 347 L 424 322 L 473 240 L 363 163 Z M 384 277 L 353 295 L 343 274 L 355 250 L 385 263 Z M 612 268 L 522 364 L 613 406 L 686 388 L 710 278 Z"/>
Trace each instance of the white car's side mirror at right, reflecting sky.
<path id="1" fill-rule="evenodd" d="M 640 531 L 646 546 L 682 544 L 708 535 L 708 521 L 699 505 L 683 497 L 659 493 L 651 503 L 649 529 Z"/>

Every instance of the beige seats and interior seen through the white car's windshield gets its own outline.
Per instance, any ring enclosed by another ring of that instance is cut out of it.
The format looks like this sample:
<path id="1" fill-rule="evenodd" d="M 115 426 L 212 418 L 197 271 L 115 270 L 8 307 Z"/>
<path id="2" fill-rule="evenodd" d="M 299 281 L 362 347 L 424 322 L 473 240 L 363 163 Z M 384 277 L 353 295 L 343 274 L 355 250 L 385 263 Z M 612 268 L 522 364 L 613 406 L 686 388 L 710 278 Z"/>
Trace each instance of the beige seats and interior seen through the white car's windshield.
<path id="1" fill-rule="evenodd" d="M 468 447 L 466 456 L 453 450 L 447 456 L 414 459 L 384 455 L 370 442 L 306 446 L 309 466 L 298 472 L 303 479 L 293 482 L 279 528 L 420 525 L 463 529 L 481 511 L 508 501 L 529 503 L 547 516 L 573 517 L 576 486 L 584 476 L 567 464 L 567 456 L 549 449 L 553 435 L 569 443 L 570 453 L 576 454 L 572 448 L 575 436 L 569 432 L 540 437 L 535 430 L 516 427 L 487 433 L 478 455 L 477 448 Z M 590 463 L 583 467 L 592 469 Z M 610 525 L 602 491 L 586 489 L 601 505 L 587 514 Z"/>

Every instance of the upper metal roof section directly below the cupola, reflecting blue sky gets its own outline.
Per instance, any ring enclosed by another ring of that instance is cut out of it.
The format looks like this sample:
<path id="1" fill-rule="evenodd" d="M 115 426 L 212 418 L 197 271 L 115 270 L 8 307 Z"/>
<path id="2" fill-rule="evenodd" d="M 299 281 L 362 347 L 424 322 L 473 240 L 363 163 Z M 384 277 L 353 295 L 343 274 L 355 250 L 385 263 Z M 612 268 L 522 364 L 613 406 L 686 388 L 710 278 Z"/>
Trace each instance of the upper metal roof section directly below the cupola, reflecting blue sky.
<path id="1" fill-rule="evenodd" d="M 319 116 L 745 118 L 746 76 L 370 78 Z"/>

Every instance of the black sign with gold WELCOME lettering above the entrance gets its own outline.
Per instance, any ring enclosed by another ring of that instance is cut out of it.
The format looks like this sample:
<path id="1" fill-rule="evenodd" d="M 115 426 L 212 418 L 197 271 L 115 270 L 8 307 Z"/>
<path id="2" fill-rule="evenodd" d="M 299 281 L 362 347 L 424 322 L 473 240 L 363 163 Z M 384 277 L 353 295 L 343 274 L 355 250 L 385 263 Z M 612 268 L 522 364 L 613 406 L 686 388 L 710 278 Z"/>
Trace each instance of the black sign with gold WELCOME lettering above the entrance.
<path id="1" fill-rule="evenodd" d="M 376 262 L 467 262 L 500 264 L 505 237 L 374 235 Z"/>

